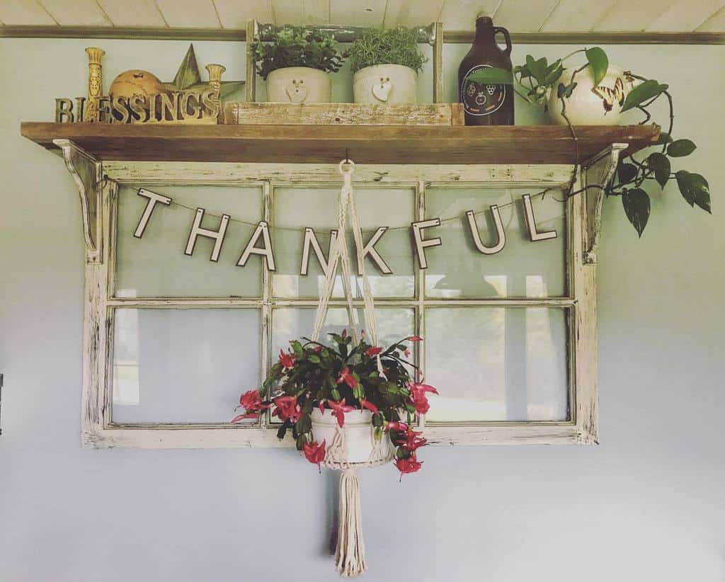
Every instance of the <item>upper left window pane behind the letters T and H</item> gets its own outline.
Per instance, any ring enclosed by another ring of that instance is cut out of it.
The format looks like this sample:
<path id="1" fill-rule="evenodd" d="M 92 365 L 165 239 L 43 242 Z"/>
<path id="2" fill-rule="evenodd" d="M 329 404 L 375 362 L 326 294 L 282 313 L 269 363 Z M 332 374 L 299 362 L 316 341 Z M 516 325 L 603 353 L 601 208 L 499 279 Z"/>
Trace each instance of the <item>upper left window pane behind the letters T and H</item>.
<path id="1" fill-rule="evenodd" d="M 262 220 L 262 189 L 225 186 L 149 186 L 173 199 L 158 203 L 143 238 L 133 236 L 148 198 L 138 188 L 118 194 L 118 297 L 255 297 L 262 294 L 262 257 L 252 255 L 245 267 L 236 262 Z M 183 207 L 180 206 L 183 204 Z M 218 262 L 210 261 L 215 241 L 196 238 L 194 254 L 184 254 L 196 208 L 204 209 L 202 228 L 218 230 L 223 214 L 231 216 Z M 239 221 L 244 221 L 243 224 Z"/>

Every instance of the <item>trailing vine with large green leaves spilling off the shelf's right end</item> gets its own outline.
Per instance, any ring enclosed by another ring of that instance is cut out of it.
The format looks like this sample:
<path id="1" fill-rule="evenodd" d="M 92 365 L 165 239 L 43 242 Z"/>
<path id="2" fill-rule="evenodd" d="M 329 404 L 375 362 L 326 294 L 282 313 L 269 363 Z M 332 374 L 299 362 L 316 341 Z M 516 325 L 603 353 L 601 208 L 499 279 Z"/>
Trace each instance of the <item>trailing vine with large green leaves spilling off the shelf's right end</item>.
<path id="1" fill-rule="evenodd" d="M 583 59 L 577 65 L 567 65 L 568 60 L 575 56 Z M 603 188 L 604 193 L 606 196 L 621 197 L 626 217 L 639 236 L 642 236 L 650 218 L 650 194 L 653 188 L 659 187 L 661 191 L 673 179 L 676 180 L 680 194 L 687 204 L 711 213 L 708 180 L 689 170 L 673 171 L 672 159 L 689 156 L 695 151 L 696 146 L 687 138 L 672 137 L 675 115 L 668 85 L 624 71 L 620 80 L 613 86 L 602 86 L 600 83 L 607 76 L 608 70 L 610 65 L 606 52 L 595 46 L 573 51 L 563 59 L 551 63 L 544 57 L 534 59 L 530 54 L 526 55 L 526 62 L 513 68 L 513 76 L 518 84 L 515 88 L 516 93 L 530 104 L 543 107 L 544 110 L 550 109 L 552 104 L 557 104 L 558 112 L 568 124 L 573 136 L 576 135 L 576 130 L 570 122 L 567 105 L 579 85 L 581 79 L 579 75 L 584 72 L 593 79 L 590 91 L 601 99 L 603 115 L 636 109 L 644 115 L 640 124 L 645 124 L 652 119 L 650 107 L 658 100 L 666 99 L 669 109 L 667 131 L 660 133 L 658 141 L 653 144 L 655 151 L 651 148 L 645 149 L 637 154 L 637 157 L 630 154 L 621 158 L 615 175 Z M 476 75 L 478 76 L 473 80 L 479 83 L 500 83 L 503 82 L 503 78 L 510 78 L 511 73 L 500 69 L 488 69 L 478 71 Z M 587 188 L 601 187 L 587 186 Z M 572 180 L 568 196 L 580 193 L 581 190 L 573 190 Z"/>

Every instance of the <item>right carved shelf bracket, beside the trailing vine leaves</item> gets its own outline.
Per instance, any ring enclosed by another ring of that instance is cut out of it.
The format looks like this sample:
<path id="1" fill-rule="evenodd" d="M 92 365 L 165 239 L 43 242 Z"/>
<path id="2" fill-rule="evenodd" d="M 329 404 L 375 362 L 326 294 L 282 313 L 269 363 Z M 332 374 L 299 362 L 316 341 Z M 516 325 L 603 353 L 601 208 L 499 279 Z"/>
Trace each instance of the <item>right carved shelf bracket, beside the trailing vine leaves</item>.
<path id="1" fill-rule="evenodd" d="M 584 209 L 587 220 L 581 240 L 584 242 L 584 264 L 597 264 L 597 247 L 602 234 L 602 204 L 605 186 L 616 172 L 619 156 L 629 144 L 612 144 L 581 165 L 584 175 Z M 599 188 L 588 188 L 599 186 Z"/>

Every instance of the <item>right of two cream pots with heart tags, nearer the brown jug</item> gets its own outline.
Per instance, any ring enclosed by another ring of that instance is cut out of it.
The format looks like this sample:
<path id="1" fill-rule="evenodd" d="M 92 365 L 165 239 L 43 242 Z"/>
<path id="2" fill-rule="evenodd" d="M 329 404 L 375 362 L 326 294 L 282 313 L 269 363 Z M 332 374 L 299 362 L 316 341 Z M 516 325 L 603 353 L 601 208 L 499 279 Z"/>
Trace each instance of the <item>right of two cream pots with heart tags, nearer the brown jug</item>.
<path id="1" fill-rule="evenodd" d="M 368 105 L 415 103 L 418 73 L 403 65 L 373 65 L 352 77 L 355 103 Z"/>

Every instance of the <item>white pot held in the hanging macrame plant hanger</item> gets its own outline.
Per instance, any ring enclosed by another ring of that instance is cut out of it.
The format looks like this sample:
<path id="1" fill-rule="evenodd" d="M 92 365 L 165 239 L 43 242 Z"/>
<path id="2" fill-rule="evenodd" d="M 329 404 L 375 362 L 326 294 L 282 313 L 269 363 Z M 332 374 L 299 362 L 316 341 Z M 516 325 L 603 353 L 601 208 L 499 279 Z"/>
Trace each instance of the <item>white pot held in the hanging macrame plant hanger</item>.
<path id="1" fill-rule="evenodd" d="M 380 441 L 373 436 L 373 414 L 369 410 L 345 412 L 342 428 L 331 410 L 323 414 L 319 409 L 312 410 L 312 436 L 315 441 L 325 441 L 326 464 L 381 464 L 392 460 L 395 450 L 388 435 Z M 342 434 L 338 436 L 338 431 Z M 340 438 L 341 437 L 341 438 Z M 337 445 L 339 444 L 339 448 Z M 376 450 L 377 446 L 377 450 Z M 374 454 L 373 454 L 374 453 Z"/>

